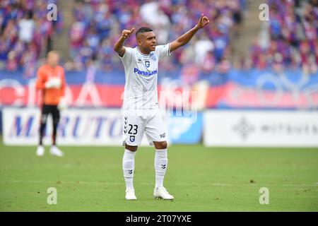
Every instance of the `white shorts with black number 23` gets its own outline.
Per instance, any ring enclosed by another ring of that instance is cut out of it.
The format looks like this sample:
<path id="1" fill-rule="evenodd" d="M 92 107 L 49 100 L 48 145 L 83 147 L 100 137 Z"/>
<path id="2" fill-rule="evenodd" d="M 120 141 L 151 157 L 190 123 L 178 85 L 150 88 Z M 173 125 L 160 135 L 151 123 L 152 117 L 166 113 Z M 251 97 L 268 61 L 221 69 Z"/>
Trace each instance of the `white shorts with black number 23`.
<path id="1" fill-rule="evenodd" d="M 144 110 L 142 114 L 124 110 L 122 112 L 122 124 L 122 145 L 140 145 L 143 132 L 146 133 L 150 145 L 153 145 L 153 141 L 166 141 L 165 125 L 159 109 Z"/>

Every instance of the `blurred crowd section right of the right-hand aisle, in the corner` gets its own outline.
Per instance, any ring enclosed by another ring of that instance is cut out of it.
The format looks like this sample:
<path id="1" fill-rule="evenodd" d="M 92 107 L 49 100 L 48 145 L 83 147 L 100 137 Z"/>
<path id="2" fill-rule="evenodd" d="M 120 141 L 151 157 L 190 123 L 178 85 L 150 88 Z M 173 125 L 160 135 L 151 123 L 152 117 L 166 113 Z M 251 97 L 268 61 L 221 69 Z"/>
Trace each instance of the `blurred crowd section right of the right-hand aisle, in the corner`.
<path id="1" fill-rule="evenodd" d="M 250 49 L 249 67 L 283 71 L 299 68 L 316 73 L 318 1 L 267 0 L 269 23 Z"/>

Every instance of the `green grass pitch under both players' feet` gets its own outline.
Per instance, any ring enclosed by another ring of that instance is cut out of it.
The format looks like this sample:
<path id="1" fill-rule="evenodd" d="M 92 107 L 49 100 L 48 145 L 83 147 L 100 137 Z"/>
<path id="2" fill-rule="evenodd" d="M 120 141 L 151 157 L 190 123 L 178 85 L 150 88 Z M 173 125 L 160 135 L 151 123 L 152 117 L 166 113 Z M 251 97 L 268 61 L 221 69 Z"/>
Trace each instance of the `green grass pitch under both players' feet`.
<path id="1" fill-rule="evenodd" d="M 317 148 L 205 148 L 171 145 L 165 187 L 175 201 L 153 198 L 153 148 L 136 153 L 136 201 L 124 199 L 121 147 L 0 144 L 0 211 L 318 211 Z M 47 204 L 47 189 L 57 204 Z M 259 189 L 269 189 L 269 204 Z"/>

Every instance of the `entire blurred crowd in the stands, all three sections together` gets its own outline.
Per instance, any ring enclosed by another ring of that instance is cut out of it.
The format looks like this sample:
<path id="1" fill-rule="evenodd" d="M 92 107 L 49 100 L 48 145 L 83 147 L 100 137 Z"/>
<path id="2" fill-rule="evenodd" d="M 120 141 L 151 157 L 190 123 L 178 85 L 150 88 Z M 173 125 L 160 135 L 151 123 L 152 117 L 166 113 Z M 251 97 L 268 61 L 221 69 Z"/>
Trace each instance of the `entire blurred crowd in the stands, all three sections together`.
<path id="1" fill-rule="evenodd" d="M 47 4 L 57 1 L 0 1 L 0 70 L 34 73 L 41 54 L 52 47 L 52 35 L 61 32 L 61 15 L 57 21 L 46 18 Z M 181 69 L 183 74 L 197 75 L 216 70 L 226 73 L 232 67 L 276 71 L 301 67 L 316 72 L 318 0 L 266 3 L 270 20 L 261 23 L 249 56 L 232 61 L 230 40 L 240 32 L 248 11 L 247 0 L 76 0 L 67 40 L 71 60 L 64 61 L 64 66 L 66 70 L 82 71 L 93 62 L 103 71 L 123 70 L 112 49 L 122 30 L 148 26 L 155 31 L 158 44 L 165 44 L 193 28 L 204 13 L 211 21 L 208 28 L 200 30 L 172 57 L 163 59 L 160 70 Z M 135 47 L 134 36 L 125 45 Z"/>

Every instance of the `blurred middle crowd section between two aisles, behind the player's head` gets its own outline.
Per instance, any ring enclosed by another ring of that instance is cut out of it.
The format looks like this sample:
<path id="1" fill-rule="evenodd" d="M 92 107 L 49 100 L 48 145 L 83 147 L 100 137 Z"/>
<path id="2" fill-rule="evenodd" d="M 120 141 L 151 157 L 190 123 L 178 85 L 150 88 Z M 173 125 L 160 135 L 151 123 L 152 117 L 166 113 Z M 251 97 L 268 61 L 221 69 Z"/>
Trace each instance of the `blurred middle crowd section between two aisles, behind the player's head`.
<path id="1" fill-rule="evenodd" d="M 122 30 L 147 26 L 155 31 L 158 44 L 165 44 L 193 28 L 204 13 L 212 22 L 209 28 L 200 30 L 189 44 L 161 62 L 160 69 L 173 71 L 193 65 L 211 71 L 225 61 L 230 30 L 241 23 L 246 5 L 245 0 L 76 1 L 70 30 L 73 61 L 67 68 L 81 70 L 90 59 L 96 59 L 103 70 L 122 69 L 112 50 Z M 135 38 L 129 38 L 126 45 L 136 46 Z"/>

